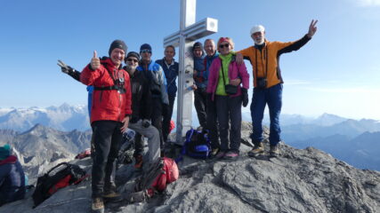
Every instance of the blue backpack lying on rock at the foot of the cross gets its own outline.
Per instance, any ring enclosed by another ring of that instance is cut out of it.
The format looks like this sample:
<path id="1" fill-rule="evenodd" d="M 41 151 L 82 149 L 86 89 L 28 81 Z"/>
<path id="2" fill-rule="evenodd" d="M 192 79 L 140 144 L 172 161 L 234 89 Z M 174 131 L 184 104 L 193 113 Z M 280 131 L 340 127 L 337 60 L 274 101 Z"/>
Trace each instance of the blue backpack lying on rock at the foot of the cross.
<path id="1" fill-rule="evenodd" d="M 207 130 L 190 129 L 186 132 L 185 144 L 182 147 L 182 154 L 187 154 L 193 158 L 206 159 L 211 153 L 211 143 Z"/>

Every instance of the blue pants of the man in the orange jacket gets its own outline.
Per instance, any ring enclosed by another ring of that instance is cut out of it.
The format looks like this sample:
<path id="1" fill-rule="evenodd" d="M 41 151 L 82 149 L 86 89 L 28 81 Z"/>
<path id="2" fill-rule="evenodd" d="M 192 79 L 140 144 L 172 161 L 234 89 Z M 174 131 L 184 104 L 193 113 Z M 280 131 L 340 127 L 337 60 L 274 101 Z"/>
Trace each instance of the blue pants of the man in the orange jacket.
<path id="1" fill-rule="evenodd" d="M 265 106 L 268 104 L 271 128 L 269 141 L 271 146 L 276 146 L 281 140 L 279 134 L 279 114 L 282 106 L 282 83 L 267 89 L 254 88 L 254 96 L 251 103 L 251 117 L 254 125 L 252 142 L 257 145 L 263 141 L 263 114 Z"/>

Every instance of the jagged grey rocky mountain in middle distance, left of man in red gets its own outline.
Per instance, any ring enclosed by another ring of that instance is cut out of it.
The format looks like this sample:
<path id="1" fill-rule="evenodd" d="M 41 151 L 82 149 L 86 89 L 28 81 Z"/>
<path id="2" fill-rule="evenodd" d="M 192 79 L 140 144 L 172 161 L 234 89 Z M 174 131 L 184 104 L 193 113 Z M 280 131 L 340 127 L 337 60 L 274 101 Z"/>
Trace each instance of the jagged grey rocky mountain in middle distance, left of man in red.
<path id="1" fill-rule="evenodd" d="M 30 182 L 62 161 L 71 161 L 90 147 L 92 131 L 60 131 L 36 124 L 30 130 L 18 133 L 0 130 L 0 146 L 10 144 L 27 171 Z"/>

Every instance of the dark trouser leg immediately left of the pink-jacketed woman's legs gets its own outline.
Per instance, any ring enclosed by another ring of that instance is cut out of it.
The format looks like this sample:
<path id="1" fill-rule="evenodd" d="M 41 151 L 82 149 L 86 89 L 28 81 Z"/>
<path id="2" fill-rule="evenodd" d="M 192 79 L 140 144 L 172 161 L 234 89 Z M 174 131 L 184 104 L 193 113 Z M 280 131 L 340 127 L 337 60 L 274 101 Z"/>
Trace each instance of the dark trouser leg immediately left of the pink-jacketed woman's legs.
<path id="1" fill-rule="evenodd" d="M 206 129 L 208 130 L 208 136 L 211 142 L 211 148 L 220 148 L 218 135 L 218 123 L 216 122 L 216 102 L 211 99 L 211 95 L 207 95 L 206 100 Z"/>

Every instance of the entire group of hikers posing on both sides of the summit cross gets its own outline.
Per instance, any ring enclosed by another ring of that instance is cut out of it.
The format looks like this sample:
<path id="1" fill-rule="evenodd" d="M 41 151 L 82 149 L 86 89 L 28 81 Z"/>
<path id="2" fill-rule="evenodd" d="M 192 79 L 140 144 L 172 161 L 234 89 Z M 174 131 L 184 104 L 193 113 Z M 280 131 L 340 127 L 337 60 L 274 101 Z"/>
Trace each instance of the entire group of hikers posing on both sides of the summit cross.
<path id="1" fill-rule="evenodd" d="M 244 59 L 253 67 L 254 84 L 251 116 L 254 126 L 251 136 L 255 147 L 249 156 L 262 154 L 263 111 L 269 106 L 271 117 L 270 154 L 279 154 L 279 114 L 282 106 L 282 77 L 279 56 L 296 51 L 315 34 L 317 21 L 312 20 L 308 33 L 298 41 L 281 43 L 265 39 L 265 29 L 258 25 L 251 29 L 254 45 L 234 51 L 230 37 L 221 37 L 216 45 L 212 39 L 194 43 L 194 105 L 200 128 L 208 130 L 212 155 L 234 159 L 239 156 L 241 106 L 248 104 L 249 74 Z M 205 54 L 206 51 L 206 54 Z M 82 72 L 71 67 L 62 71 L 89 86 L 89 113 L 93 129 L 93 202 L 94 212 L 102 212 L 103 199 L 116 198 L 112 173 L 115 159 L 127 128 L 135 130 L 135 167 L 142 164 L 141 135 L 148 138 L 149 164 L 163 154 L 169 134 L 179 74 L 174 61 L 174 46 L 166 46 L 164 59 L 153 61 L 150 44 L 141 45 L 140 52 L 127 52 L 121 40 L 110 44 L 109 57 L 93 58 Z M 125 62 L 125 67 L 122 66 Z M 71 71 L 69 71 L 71 70 Z M 76 75 L 73 75 L 76 74 Z M 219 142 L 220 140 L 220 142 Z"/>

